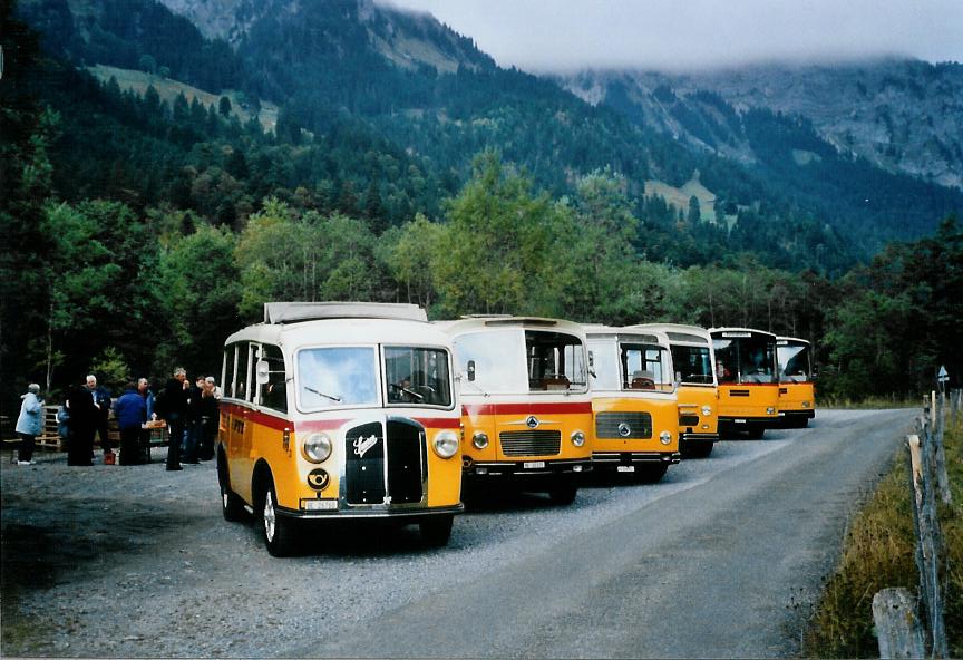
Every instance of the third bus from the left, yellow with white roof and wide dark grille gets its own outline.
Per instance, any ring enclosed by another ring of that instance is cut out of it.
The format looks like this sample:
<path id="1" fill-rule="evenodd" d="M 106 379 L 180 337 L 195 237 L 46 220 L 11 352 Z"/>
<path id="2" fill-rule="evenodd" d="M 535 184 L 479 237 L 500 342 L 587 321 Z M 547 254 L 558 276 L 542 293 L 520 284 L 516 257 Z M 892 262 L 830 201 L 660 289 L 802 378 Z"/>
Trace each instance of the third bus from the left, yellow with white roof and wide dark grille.
<path id="1" fill-rule="evenodd" d="M 593 469 L 655 483 L 681 456 L 669 338 L 639 328 L 584 329 L 592 386 Z"/>

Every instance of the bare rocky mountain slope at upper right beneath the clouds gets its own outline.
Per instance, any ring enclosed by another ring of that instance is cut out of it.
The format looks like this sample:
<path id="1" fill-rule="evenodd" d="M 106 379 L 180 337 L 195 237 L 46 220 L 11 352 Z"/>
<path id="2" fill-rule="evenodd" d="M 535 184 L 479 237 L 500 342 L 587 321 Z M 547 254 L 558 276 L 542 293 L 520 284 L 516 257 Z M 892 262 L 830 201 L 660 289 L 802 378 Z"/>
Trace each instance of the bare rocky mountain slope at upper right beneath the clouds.
<path id="1" fill-rule="evenodd" d="M 561 81 L 590 103 L 638 113 L 660 130 L 740 161 L 752 158 L 745 144 L 738 139 L 736 145 L 727 144 L 728 134 L 722 144 L 711 139 L 719 136 L 707 139 L 698 122 L 687 124 L 682 114 L 711 113 L 716 99 L 721 99 L 739 113 L 767 108 L 799 115 L 843 154 L 891 173 L 963 188 L 960 64 L 879 59 L 836 66 L 758 65 L 688 75 L 585 71 Z"/>

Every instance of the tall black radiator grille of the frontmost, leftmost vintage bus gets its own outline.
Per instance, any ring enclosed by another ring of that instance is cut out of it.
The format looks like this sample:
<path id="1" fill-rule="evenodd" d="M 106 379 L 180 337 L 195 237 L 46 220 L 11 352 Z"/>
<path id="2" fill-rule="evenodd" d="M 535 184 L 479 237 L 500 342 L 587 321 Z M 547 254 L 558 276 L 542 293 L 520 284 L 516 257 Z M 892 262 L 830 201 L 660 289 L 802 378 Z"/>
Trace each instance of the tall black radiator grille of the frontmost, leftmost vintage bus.
<path id="1" fill-rule="evenodd" d="M 386 495 L 391 504 L 421 501 L 427 456 L 419 424 L 389 419 L 387 438 L 379 421 L 356 426 L 344 435 L 344 456 L 348 504 L 383 504 Z"/>

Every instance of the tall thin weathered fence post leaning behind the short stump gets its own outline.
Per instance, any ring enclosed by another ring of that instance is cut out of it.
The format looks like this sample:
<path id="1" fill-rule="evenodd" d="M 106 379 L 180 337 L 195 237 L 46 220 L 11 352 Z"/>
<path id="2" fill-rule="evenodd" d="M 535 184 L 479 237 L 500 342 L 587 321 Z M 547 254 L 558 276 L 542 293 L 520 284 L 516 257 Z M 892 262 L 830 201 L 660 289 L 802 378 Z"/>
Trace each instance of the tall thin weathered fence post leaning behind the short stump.
<path id="1" fill-rule="evenodd" d="M 943 599 L 940 590 L 940 522 L 931 473 L 931 443 L 925 418 L 916 420 L 918 435 L 906 437 L 909 450 L 909 486 L 913 493 L 913 524 L 916 531 L 916 569 L 920 573 L 920 596 L 926 609 L 927 641 L 934 658 L 947 656 L 946 628 L 943 621 Z"/>

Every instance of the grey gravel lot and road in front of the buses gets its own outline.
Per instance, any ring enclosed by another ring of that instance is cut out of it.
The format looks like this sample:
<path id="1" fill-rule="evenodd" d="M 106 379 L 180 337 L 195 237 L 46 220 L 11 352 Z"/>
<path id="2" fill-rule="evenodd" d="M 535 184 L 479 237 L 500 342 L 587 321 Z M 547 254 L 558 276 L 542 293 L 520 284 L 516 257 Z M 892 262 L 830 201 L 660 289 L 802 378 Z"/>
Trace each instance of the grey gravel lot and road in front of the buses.
<path id="1" fill-rule="evenodd" d="M 339 524 L 286 560 L 223 521 L 211 463 L 4 460 L 0 654 L 794 656 L 846 520 L 912 417 L 820 411 L 658 485 L 486 503 L 445 549 L 417 527 Z"/>

